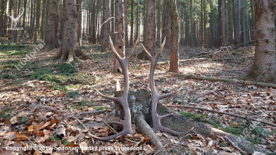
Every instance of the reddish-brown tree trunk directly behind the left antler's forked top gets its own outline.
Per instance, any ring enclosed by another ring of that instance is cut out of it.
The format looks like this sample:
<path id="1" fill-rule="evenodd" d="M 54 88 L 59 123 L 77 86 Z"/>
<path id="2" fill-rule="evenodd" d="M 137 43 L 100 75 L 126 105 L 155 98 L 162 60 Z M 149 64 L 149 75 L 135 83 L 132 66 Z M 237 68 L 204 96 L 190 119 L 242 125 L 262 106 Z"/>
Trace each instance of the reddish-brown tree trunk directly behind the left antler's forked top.
<path id="1" fill-rule="evenodd" d="M 115 39 L 114 39 L 114 48 L 117 53 L 124 57 L 124 13 L 123 13 L 123 1 L 115 0 Z M 113 73 L 121 72 L 121 66 L 114 56 L 113 61 Z"/>

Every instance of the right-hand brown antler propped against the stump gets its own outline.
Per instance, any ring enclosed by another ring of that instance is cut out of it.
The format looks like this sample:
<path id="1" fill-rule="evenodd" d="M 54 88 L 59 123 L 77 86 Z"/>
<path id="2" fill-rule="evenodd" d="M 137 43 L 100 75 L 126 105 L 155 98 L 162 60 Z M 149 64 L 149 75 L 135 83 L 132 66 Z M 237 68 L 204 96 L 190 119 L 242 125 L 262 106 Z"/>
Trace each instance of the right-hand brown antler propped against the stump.
<path id="1" fill-rule="evenodd" d="M 165 42 L 166 42 L 166 37 L 164 38 L 164 41 L 163 41 L 163 43 L 160 47 L 159 52 L 154 57 L 146 50 L 144 45 L 141 44 L 144 51 L 147 53 L 147 55 L 149 56 L 149 58 L 151 60 L 150 85 L 151 85 L 151 90 L 152 90 L 152 105 L 151 105 L 151 108 L 152 108 L 152 118 L 153 118 L 153 130 L 154 131 L 164 131 L 164 132 L 168 132 L 168 133 L 173 134 L 173 135 L 181 135 L 181 134 L 186 134 L 189 131 L 177 132 L 177 131 L 174 131 L 172 129 L 169 129 L 169 128 L 164 127 L 164 126 L 161 125 L 161 120 L 165 117 L 173 115 L 173 113 L 166 114 L 166 115 L 163 115 L 163 116 L 160 116 L 157 113 L 157 104 L 158 104 L 159 100 L 161 100 L 163 98 L 166 98 L 166 97 L 169 97 L 169 96 L 171 96 L 171 95 L 178 92 L 178 91 L 174 91 L 174 92 L 167 93 L 167 94 L 158 94 L 156 89 L 155 89 L 154 72 L 155 72 L 155 68 L 156 68 L 158 59 L 159 59 L 159 57 L 161 55 L 161 52 L 164 48 Z"/>

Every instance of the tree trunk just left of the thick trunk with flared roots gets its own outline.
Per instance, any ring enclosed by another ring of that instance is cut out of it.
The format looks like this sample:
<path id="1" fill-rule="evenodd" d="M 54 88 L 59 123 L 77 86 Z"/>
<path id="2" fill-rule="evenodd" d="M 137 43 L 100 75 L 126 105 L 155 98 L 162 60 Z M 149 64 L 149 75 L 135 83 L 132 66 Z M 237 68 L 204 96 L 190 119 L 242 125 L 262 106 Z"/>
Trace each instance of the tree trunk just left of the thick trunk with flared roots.
<path id="1" fill-rule="evenodd" d="M 45 49 L 51 50 L 59 47 L 58 42 L 58 0 L 51 0 L 49 10 L 48 32 Z"/>

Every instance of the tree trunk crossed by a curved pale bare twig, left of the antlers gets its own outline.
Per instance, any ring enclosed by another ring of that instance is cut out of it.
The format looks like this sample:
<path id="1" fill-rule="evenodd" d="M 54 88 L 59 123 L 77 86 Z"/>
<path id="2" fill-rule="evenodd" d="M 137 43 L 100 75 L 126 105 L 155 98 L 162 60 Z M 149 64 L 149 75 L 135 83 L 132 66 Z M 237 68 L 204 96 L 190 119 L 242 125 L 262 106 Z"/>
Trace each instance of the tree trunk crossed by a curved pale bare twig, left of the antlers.
<path id="1" fill-rule="evenodd" d="M 101 26 L 102 31 L 102 43 L 101 43 L 101 51 L 106 51 L 109 49 L 109 34 L 110 34 L 110 0 L 103 1 L 103 24 Z M 108 20 L 108 21 L 107 21 Z"/>

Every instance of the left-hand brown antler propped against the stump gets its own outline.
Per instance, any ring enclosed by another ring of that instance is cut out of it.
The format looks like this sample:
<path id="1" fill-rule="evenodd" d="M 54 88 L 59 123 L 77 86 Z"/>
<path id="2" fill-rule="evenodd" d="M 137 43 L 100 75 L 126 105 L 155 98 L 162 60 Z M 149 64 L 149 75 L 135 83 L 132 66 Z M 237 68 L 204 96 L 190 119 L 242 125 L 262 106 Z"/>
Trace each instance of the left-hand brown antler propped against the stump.
<path id="1" fill-rule="evenodd" d="M 124 85 L 123 85 L 123 93 L 120 97 L 111 97 L 111 96 L 106 96 L 106 95 L 103 95 L 102 93 L 100 93 L 97 89 L 95 89 L 97 91 L 97 93 L 103 97 L 103 98 L 106 98 L 106 99 L 110 99 L 110 100 L 113 100 L 113 101 L 116 101 L 118 103 L 121 104 L 122 108 L 123 108 L 123 111 L 124 111 L 124 120 L 122 122 L 117 122 L 117 121 L 112 121 L 112 122 L 107 122 L 108 124 L 116 124 L 116 125 L 120 125 L 120 126 L 123 126 L 123 130 L 119 133 L 116 133 L 116 134 L 113 134 L 113 135 L 110 135 L 108 137 L 97 137 L 97 136 L 92 136 L 93 138 L 97 139 L 97 140 L 102 140 L 102 141 L 107 141 L 107 140 L 110 140 L 110 139 L 114 139 L 118 136 L 124 136 L 126 134 L 132 134 L 133 131 L 132 131 L 132 127 L 131 127 L 131 115 L 130 115 L 130 110 L 129 110 L 129 106 L 128 106 L 128 103 L 127 103 L 127 95 L 128 95 L 128 89 L 129 89 L 129 79 L 128 79 L 128 72 L 127 72 L 127 65 L 128 65 L 128 62 L 129 62 L 129 59 L 130 57 L 133 55 L 135 49 L 136 49 L 136 46 L 139 42 L 139 37 L 137 38 L 135 44 L 134 44 L 134 47 L 132 49 L 132 52 L 124 59 L 122 59 L 119 54 L 116 52 L 114 46 L 113 46 L 113 43 L 112 43 L 112 40 L 111 38 L 109 37 L 109 42 L 110 42 L 110 45 L 111 45 L 111 49 L 112 49 L 112 52 L 113 54 L 115 55 L 115 57 L 117 58 L 117 60 L 119 61 L 120 65 L 121 65 L 121 68 L 122 68 L 122 72 L 123 72 L 123 78 L 124 78 Z"/>

